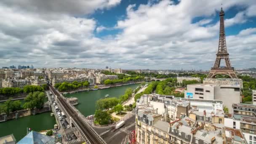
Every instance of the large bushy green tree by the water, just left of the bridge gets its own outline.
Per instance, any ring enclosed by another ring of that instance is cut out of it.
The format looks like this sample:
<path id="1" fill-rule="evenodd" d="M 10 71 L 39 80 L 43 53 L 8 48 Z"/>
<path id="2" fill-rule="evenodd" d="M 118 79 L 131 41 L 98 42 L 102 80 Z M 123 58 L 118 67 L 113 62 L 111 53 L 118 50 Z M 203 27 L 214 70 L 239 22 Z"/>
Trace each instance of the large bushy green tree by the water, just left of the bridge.
<path id="1" fill-rule="evenodd" d="M 23 107 L 25 109 L 34 109 L 35 107 L 37 109 L 40 109 L 43 107 L 44 98 L 45 98 L 44 92 L 37 91 L 34 93 L 29 93 L 29 95 L 24 99 L 24 101 L 26 102 Z"/>

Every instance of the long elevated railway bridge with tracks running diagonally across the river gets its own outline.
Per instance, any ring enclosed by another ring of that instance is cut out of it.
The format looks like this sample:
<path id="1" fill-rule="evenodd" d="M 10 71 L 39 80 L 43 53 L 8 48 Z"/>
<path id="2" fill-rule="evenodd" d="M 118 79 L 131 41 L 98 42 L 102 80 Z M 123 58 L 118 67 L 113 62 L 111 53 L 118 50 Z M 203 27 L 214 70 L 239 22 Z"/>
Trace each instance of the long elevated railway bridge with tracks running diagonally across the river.
<path id="1" fill-rule="evenodd" d="M 86 144 L 107 144 L 91 125 L 84 120 L 84 116 L 59 91 L 54 89 L 50 83 L 48 83 L 48 86 L 62 112 L 69 117 L 70 126 L 75 126 Z"/>

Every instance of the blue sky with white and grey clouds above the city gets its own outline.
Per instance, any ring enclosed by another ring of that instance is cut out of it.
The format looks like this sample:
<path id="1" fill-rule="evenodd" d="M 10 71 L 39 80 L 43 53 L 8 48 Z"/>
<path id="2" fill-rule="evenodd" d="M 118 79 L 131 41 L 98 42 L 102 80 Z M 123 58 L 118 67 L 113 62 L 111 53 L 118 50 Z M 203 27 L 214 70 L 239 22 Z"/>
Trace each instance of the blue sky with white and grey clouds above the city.
<path id="1" fill-rule="evenodd" d="M 223 3 L 223 5 L 221 5 Z M 256 0 L 1 0 L 0 67 L 256 67 Z"/>

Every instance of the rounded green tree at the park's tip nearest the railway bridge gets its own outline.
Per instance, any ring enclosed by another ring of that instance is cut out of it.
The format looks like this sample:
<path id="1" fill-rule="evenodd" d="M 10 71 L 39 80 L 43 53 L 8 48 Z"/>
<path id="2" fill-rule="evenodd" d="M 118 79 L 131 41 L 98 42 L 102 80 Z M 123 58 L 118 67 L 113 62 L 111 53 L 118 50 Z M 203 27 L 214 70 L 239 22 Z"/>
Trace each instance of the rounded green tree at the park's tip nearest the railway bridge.
<path id="1" fill-rule="evenodd" d="M 110 114 L 107 111 L 102 111 L 100 109 L 95 111 L 94 118 L 100 125 L 106 125 L 111 121 Z"/>

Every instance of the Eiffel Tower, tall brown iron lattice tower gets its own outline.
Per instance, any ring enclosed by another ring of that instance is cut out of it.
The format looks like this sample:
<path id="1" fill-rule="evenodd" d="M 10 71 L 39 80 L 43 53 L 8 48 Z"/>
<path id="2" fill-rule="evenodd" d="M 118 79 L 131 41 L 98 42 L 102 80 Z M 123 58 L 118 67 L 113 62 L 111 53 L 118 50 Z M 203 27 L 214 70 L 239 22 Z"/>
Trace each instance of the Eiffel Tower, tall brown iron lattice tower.
<path id="1" fill-rule="evenodd" d="M 225 28 L 224 28 L 224 11 L 219 13 L 220 25 L 219 25 L 219 48 L 216 53 L 216 60 L 209 72 L 207 78 L 214 78 L 216 75 L 228 75 L 230 78 L 237 78 L 234 67 L 231 66 L 229 61 L 229 53 L 227 52 Z M 221 59 L 225 60 L 226 67 L 220 67 Z"/>

